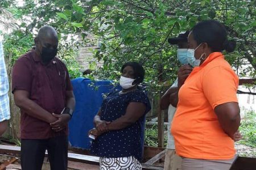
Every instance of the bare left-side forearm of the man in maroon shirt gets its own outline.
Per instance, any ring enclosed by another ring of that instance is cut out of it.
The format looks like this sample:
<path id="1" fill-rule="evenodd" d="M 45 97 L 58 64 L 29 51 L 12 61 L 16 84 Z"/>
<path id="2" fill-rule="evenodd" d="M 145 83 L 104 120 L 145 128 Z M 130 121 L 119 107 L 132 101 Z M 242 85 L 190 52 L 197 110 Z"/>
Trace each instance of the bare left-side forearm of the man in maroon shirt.
<path id="1" fill-rule="evenodd" d="M 38 118 L 44 122 L 52 123 L 57 120 L 56 117 L 52 116 L 51 113 L 44 110 L 34 101 L 29 99 L 29 92 L 25 90 L 14 91 L 14 102 L 15 104 L 25 111 L 29 116 Z"/>

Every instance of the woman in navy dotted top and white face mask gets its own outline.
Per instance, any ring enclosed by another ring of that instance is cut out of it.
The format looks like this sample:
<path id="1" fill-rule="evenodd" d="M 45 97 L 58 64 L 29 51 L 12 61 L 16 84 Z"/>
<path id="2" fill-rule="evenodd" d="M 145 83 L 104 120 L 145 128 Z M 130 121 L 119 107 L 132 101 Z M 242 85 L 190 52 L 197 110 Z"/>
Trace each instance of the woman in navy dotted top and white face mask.
<path id="1" fill-rule="evenodd" d="M 100 156 L 100 169 L 142 169 L 143 123 L 151 106 L 146 94 L 137 88 L 143 82 L 144 69 L 137 62 L 122 66 L 122 91 L 104 99 L 94 117 L 96 136 L 91 153 Z"/>

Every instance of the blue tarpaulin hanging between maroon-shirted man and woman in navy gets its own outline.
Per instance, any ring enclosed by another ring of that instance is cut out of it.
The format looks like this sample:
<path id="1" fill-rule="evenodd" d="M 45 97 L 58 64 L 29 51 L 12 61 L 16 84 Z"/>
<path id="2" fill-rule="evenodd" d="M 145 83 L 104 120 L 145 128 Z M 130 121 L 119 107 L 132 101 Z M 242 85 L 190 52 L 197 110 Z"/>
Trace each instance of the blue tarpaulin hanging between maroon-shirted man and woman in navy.
<path id="1" fill-rule="evenodd" d="M 103 100 L 102 95 L 113 90 L 109 80 L 93 81 L 86 78 L 71 80 L 76 98 L 76 109 L 69 121 L 69 142 L 72 147 L 88 149 L 91 139 L 88 131 L 93 128 L 93 117 Z"/>

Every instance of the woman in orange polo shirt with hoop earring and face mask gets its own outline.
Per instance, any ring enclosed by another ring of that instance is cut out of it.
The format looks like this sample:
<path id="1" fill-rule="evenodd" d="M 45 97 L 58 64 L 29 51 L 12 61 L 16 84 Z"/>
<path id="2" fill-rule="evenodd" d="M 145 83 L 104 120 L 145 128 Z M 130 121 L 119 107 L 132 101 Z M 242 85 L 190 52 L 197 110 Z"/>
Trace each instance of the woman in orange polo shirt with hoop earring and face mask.
<path id="1" fill-rule="evenodd" d="M 227 39 L 224 25 L 207 20 L 195 25 L 188 44 L 189 65 L 178 72 L 179 102 L 171 127 L 176 152 L 183 170 L 229 169 L 236 158 L 240 108 L 238 77 L 222 51 L 233 52 L 236 42 Z"/>

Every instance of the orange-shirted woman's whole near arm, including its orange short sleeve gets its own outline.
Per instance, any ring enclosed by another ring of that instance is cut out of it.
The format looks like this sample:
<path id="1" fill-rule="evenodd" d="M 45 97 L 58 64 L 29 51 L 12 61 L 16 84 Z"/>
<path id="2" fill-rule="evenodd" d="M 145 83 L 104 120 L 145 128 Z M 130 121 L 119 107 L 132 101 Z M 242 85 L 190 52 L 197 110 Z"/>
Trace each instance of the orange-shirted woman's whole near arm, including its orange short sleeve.
<path id="1" fill-rule="evenodd" d="M 238 77 L 231 67 L 213 67 L 201 78 L 204 96 L 217 115 L 223 131 L 234 139 L 240 126 Z"/>

